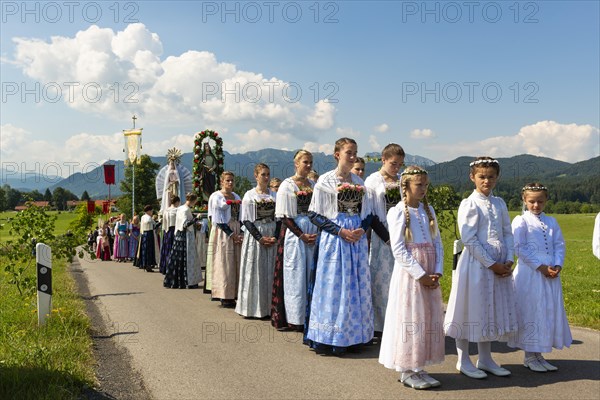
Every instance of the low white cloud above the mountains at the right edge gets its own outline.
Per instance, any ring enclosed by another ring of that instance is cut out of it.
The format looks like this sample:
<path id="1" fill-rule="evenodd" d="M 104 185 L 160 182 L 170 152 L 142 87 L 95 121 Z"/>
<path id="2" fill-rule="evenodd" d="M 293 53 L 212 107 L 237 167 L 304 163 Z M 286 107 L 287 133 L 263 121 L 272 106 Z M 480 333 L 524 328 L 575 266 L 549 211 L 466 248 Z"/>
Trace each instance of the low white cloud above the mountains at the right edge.
<path id="1" fill-rule="evenodd" d="M 522 127 L 512 136 L 496 136 L 434 148 L 443 151 L 446 160 L 463 155 L 511 157 L 531 154 L 573 163 L 597 157 L 600 154 L 599 143 L 600 131 L 592 125 L 540 121 Z"/>

